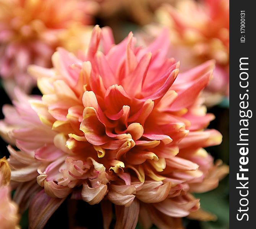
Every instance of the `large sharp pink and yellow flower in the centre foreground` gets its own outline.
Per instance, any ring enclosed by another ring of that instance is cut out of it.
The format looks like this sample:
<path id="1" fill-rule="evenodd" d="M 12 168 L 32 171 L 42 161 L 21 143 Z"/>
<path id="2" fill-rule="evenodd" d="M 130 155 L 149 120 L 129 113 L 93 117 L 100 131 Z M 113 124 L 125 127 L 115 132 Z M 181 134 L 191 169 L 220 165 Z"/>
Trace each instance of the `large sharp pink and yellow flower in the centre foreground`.
<path id="1" fill-rule="evenodd" d="M 52 69 L 29 68 L 42 98 L 16 90 L 15 107 L 3 108 L 2 135 L 20 150 L 8 147 L 16 199 L 39 190 L 36 180 L 44 188 L 31 203 L 32 227 L 71 194 L 102 204 L 104 228 L 111 203 L 116 228 L 134 228 L 138 218 L 144 228 L 181 228 L 199 208 L 190 193 L 217 187 L 227 173 L 203 149 L 222 140 L 205 130 L 214 116 L 199 97 L 214 62 L 178 76 L 167 31 L 146 48 L 135 44 L 130 33 L 115 45 L 110 29 L 96 26 L 83 58 L 59 48 Z"/>

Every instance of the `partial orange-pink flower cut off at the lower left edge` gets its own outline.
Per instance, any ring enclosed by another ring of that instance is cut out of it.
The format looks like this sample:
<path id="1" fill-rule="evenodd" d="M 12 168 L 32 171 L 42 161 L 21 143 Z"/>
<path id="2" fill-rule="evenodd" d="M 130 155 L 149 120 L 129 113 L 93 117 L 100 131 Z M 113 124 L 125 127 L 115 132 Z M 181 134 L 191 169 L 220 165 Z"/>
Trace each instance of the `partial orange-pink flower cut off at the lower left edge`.
<path id="1" fill-rule="evenodd" d="M 19 229 L 18 206 L 11 200 L 11 170 L 5 158 L 0 159 L 0 227 L 1 229 Z"/>

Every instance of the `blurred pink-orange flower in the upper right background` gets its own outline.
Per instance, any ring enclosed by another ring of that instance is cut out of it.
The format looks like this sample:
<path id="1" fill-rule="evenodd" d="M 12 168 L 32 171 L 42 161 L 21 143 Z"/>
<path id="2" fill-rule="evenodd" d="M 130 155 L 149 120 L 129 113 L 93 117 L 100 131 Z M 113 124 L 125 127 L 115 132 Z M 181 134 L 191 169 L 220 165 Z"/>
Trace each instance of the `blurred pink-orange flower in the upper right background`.
<path id="1" fill-rule="evenodd" d="M 229 94 L 229 0 L 180 0 L 176 7 L 165 5 L 157 15 L 170 28 L 182 70 L 216 60 L 205 96 L 207 105 L 220 102 Z"/>

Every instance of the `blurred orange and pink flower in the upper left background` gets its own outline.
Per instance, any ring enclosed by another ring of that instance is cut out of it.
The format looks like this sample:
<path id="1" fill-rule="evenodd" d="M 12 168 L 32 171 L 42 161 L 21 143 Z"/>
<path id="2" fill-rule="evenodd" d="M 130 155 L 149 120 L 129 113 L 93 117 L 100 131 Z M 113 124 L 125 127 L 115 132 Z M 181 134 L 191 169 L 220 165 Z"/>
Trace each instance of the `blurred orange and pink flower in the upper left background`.
<path id="1" fill-rule="evenodd" d="M 35 84 L 29 64 L 51 67 L 73 24 L 90 24 L 95 2 L 83 0 L 0 0 L 0 75 L 13 97 L 15 85 L 28 92 Z M 71 50 L 73 51 L 73 50 Z"/>

